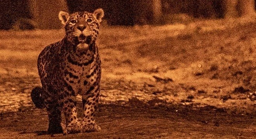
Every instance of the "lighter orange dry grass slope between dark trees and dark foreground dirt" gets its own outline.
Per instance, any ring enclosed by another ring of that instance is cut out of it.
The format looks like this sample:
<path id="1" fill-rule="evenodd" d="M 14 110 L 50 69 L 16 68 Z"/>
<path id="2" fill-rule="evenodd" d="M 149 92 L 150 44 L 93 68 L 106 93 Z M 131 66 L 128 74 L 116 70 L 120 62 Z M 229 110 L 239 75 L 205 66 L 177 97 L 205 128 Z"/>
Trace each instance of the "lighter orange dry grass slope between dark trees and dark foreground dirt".
<path id="1" fill-rule="evenodd" d="M 255 33 L 256 23 L 245 19 L 102 28 L 102 103 L 137 97 L 251 110 L 255 101 L 247 95 L 256 91 Z M 21 90 L 40 85 L 38 54 L 64 30 L 2 31 L 0 36 L 0 90 L 15 92 L 19 102 Z M 24 79 L 33 80 L 19 85 Z M 241 86 L 249 91 L 234 92 Z M 25 94 L 29 97 L 29 91 Z M 5 107 L 8 101 L 2 95 L 1 109 L 12 110 Z"/>

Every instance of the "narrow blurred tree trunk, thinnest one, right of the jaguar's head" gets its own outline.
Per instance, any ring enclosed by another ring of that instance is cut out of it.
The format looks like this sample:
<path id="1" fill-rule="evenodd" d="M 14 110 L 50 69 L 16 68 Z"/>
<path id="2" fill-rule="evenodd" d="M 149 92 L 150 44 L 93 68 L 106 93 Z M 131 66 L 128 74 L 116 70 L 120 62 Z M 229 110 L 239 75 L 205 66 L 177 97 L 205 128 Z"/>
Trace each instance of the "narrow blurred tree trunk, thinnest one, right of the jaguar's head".
<path id="1" fill-rule="evenodd" d="M 153 11 L 154 24 L 158 24 L 162 17 L 161 0 L 152 0 L 152 11 Z"/>

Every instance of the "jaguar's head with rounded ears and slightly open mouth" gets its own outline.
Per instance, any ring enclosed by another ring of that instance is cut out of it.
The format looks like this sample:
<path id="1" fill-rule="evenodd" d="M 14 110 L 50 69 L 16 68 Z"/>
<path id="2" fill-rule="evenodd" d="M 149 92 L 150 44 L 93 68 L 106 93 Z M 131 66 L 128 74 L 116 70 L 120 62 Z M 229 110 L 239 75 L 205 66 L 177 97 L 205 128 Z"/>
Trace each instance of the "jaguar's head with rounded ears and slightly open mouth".
<path id="1" fill-rule="evenodd" d="M 93 13 L 59 12 L 59 19 L 65 25 L 67 41 L 77 46 L 78 49 L 85 49 L 96 41 L 103 16 L 104 12 L 101 8 Z"/>

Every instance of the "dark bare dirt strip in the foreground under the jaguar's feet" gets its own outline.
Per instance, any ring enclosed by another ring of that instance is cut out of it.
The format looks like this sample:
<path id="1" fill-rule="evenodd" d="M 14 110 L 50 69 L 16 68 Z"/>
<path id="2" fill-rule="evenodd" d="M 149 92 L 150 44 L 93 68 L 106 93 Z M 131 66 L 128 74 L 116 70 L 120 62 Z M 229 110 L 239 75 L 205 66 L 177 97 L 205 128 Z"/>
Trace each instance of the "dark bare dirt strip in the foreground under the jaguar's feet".
<path id="1" fill-rule="evenodd" d="M 71 134 L 67 139 L 255 139 L 254 114 L 228 114 L 225 109 L 191 105 L 145 107 L 141 103 L 100 105 L 100 132 Z M 80 111 L 81 115 L 81 111 Z M 26 109 L 1 115 L 0 138 L 63 138 L 47 135 L 45 110 Z"/>

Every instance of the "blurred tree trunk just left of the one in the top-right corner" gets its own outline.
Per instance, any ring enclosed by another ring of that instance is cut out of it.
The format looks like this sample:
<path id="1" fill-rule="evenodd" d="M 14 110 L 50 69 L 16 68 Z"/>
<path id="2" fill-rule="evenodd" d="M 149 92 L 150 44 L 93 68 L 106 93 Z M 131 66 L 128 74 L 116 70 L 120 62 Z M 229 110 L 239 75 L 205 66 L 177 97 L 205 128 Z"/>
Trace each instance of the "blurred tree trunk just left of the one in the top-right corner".
<path id="1" fill-rule="evenodd" d="M 225 0 L 225 18 L 237 17 L 237 3 L 238 0 Z"/>

